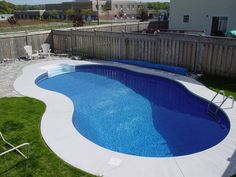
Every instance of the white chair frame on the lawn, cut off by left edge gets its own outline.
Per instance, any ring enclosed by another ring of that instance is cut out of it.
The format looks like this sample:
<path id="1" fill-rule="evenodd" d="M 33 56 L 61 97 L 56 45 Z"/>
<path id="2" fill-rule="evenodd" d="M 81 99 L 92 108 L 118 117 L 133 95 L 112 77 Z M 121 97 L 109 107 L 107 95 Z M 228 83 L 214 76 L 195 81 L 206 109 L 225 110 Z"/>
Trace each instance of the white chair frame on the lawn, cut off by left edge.
<path id="1" fill-rule="evenodd" d="M 14 146 L 12 145 L 11 143 L 9 143 L 7 140 L 5 140 L 5 138 L 3 137 L 2 133 L 0 132 L 0 138 L 4 141 L 4 143 L 6 143 L 7 145 L 9 145 L 11 148 L 4 151 L 4 152 L 1 152 L 0 153 L 0 157 L 9 153 L 9 152 L 12 152 L 12 151 L 17 151 L 21 156 L 23 156 L 25 159 L 28 159 L 29 158 L 29 146 L 30 144 L 29 143 L 23 143 L 23 144 L 20 144 L 18 146 Z M 25 155 L 23 152 L 21 152 L 19 149 L 23 146 L 28 146 L 28 149 L 27 149 L 27 155 Z"/>

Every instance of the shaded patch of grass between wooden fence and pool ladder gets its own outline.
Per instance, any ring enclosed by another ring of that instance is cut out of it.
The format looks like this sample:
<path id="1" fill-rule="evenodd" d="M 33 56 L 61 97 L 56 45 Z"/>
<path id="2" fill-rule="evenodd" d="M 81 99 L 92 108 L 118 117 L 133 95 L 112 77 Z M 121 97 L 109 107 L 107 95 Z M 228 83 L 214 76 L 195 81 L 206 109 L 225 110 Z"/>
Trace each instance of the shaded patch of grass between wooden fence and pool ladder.
<path id="1" fill-rule="evenodd" d="M 216 76 L 202 76 L 199 81 L 214 91 L 224 90 L 226 95 L 236 99 L 236 80 Z"/>

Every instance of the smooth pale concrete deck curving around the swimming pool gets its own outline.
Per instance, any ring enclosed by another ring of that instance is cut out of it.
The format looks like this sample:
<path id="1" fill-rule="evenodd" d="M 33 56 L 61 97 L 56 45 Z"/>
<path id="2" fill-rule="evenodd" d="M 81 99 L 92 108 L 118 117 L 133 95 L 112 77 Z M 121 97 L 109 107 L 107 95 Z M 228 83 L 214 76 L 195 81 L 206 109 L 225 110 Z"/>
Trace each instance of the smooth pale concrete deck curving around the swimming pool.
<path id="1" fill-rule="evenodd" d="M 216 146 L 186 156 L 149 158 L 138 157 L 102 148 L 84 138 L 72 123 L 72 101 L 56 92 L 44 90 L 35 84 L 35 79 L 46 73 L 45 66 L 71 66 L 103 64 L 118 66 L 132 71 L 163 76 L 176 80 L 190 91 L 211 100 L 215 92 L 199 82 L 177 74 L 146 69 L 137 66 L 104 61 L 53 60 L 26 66 L 14 83 L 22 95 L 42 100 L 47 105 L 41 121 L 42 136 L 47 145 L 67 163 L 100 176 L 110 177 L 220 177 L 236 172 L 236 107 L 229 109 L 231 102 L 224 105 L 231 129 L 227 137 Z M 43 69 L 44 68 L 44 69 Z"/>

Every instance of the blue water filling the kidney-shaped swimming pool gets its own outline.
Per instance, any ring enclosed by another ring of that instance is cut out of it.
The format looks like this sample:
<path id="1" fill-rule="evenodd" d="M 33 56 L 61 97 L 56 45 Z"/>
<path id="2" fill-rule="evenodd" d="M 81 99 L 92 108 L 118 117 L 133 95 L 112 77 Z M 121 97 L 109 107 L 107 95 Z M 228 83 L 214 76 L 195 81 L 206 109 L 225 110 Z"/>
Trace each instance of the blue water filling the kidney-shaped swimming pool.
<path id="1" fill-rule="evenodd" d="M 212 118 L 207 101 L 157 76 L 84 65 L 37 84 L 68 96 L 75 107 L 75 128 L 97 145 L 117 152 L 187 155 L 218 144 L 230 129 L 222 111 Z"/>

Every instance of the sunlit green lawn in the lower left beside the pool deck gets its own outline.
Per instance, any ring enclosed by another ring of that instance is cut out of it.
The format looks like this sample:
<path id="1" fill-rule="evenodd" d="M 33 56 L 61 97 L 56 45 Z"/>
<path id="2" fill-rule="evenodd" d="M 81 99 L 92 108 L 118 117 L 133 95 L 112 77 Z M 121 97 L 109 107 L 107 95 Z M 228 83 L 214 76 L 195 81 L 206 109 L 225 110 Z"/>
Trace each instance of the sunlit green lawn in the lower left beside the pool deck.
<path id="1" fill-rule="evenodd" d="M 30 143 L 29 160 L 24 160 L 16 152 L 0 157 L 0 176 L 92 177 L 66 164 L 46 146 L 40 133 L 40 120 L 44 111 L 45 104 L 36 99 L 0 99 L 0 131 L 5 139 L 14 145 Z M 0 152 L 7 148 L 0 140 Z"/>

